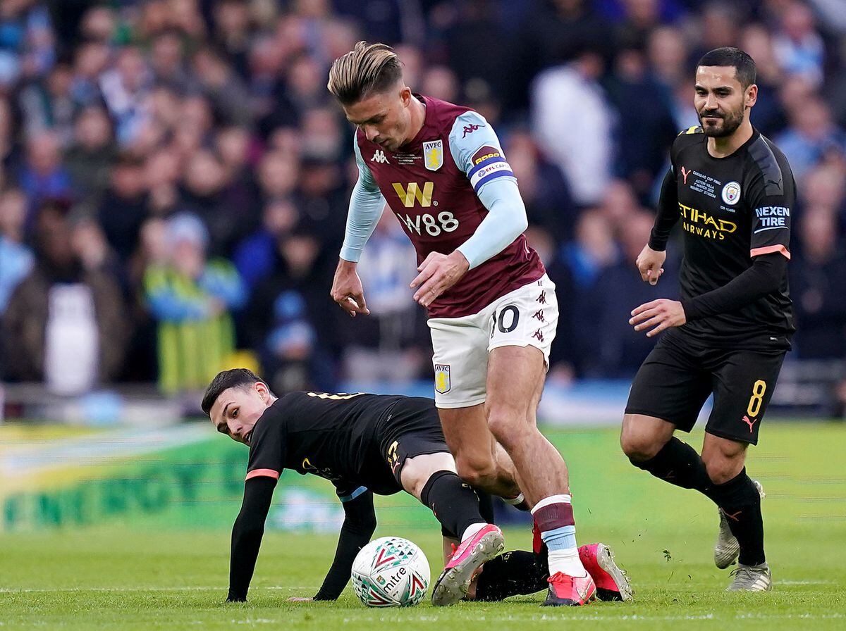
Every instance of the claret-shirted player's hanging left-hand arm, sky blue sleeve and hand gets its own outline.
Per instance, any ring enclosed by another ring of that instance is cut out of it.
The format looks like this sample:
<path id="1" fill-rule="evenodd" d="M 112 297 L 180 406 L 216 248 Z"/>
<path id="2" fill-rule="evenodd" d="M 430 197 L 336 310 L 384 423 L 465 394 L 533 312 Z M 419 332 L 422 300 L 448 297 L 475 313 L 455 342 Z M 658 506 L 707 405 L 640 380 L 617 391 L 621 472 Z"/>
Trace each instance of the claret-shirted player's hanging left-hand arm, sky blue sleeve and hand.
<path id="1" fill-rule="evenodd" d="M 370 168 L 361 157 L 361 150 L 357 139 L 353 139 L 355 150 L 355 164 L 359 167 L 359 178 L 353 187 L 349 198 L 349 213 L 347 214 L 347 228 L 343 236 L 338 269 L 332 281 L 332 300 L 338 302 L 344 311 L 355 317 L 356 313 L 370 313 L 365 304 L 364 288 L 361 286 L 359 275 L 355 271 L 365 243 L 382 217 L 385 199 L 379 191 L 376 180 Z"/>

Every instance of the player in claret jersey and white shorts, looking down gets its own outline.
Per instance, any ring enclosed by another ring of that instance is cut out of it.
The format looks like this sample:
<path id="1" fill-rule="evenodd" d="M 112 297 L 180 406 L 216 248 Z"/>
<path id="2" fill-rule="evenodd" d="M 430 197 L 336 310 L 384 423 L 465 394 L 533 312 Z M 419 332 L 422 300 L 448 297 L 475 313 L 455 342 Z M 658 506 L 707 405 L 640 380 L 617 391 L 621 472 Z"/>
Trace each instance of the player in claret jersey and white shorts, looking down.
<path id="1" fill-rule="evenodd" d="M 335 60 L 328 89 L 356 126 L 359 167 L 332 298 L 351 316 L 369 313 L 356 262 L 387 200 L 417 252 L 410 286 L 428 309 L 435 402 L 459 475 L 533 507 L 549 549 L 545 605 L 591 601 L 567 467 L 536 427 L 555 286 L 523 235 L 497 134 L 467 107 L 413 94 L 384 44 L 360 42 Z"/>

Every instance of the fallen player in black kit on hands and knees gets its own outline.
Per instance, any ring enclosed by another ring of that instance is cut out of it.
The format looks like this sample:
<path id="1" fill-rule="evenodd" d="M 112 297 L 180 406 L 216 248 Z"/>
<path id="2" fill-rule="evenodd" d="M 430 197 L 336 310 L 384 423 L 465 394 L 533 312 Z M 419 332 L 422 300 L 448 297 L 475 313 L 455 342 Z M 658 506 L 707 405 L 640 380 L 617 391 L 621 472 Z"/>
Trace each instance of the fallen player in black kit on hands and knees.
<path id="1" fill-rule="evenodd" d="M 467 552 L 448 553 L 451 563 L 432 590 L 434 604 L 448 605 L 461 598 L 498 601 L 546 589 L 548 575 L 536 567 L 531 552 L 496 557 L 504 543 L 491 523 L 490 498 L 477 496 L 456 475 L 433 400 L 315 392 L 277 398 L 261 378 L 235 368 L 212 380 L 202 409 L 217 431 L 250 446 L 244 503 L 232 532 L 228 601 L 246 600 L 273 489 L 283 469 L 331 481 L 344 512 L 338 549 L 321 589 L 313 598 L 294 600 L 338 598 L 349 582 L 355 555 L 376 530 L 373 493 L 403 490 L 433 512 L 437 507 L 445 553 L 452 542 Z M 606 600 L 629 596 L 628 582 L 613 565 L 607 547 L 583 548 L 580 553 L 586 555 L 591 575 L 596 574 L 597 584 L 609 587 L 600 596 Z M 453 565 L 456 557 L 460 562 Z"/>

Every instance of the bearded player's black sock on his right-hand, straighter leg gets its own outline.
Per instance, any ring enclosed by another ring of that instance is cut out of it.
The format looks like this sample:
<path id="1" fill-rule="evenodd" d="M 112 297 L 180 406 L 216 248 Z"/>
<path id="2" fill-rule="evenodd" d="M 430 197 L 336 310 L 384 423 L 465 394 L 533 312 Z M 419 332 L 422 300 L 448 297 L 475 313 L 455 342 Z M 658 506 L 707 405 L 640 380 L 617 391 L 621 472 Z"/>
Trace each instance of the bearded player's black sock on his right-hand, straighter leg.
<path id="1" fill-rule="evenodd" d="M 715 484 L 708 494 L 728 521 L 728 527 L 740 544 L 739 563 L 764 563 L 764 519 L 761 494 L 746 475 L 746 469 L 725 484 Z"/>

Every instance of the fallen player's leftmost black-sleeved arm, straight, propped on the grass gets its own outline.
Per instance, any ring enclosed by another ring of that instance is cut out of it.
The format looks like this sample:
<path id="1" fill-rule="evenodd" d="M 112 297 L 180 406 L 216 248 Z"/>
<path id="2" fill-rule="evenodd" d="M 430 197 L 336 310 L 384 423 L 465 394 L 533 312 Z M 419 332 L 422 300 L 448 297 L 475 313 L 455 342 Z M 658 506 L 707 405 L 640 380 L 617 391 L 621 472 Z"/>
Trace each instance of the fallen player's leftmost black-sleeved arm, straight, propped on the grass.
<path id="1" fill-rule="evenodd" d="M 244 483 L 244 502 L 232 529 L 229 593 L 226 598 L 229 602 L 247 600 L 276 481 L 277 478 L 272 476 L 255 476 Z"/>

